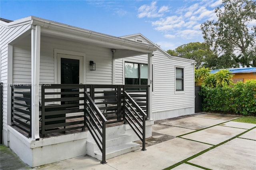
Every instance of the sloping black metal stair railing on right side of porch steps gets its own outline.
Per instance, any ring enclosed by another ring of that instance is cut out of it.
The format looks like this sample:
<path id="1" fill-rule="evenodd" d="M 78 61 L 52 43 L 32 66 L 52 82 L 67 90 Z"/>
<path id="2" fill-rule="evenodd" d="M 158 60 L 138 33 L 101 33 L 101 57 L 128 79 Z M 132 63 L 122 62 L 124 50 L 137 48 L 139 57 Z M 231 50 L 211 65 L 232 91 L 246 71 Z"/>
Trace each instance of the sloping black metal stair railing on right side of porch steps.
<path id="1" fill-rule="evenodd" d="M 146 150 L 146 113 L 132 99 L 132 97 L 124 91 L 124 120 L 130 125 L 132 130 L 142 141 L 142 150 Z"/>

